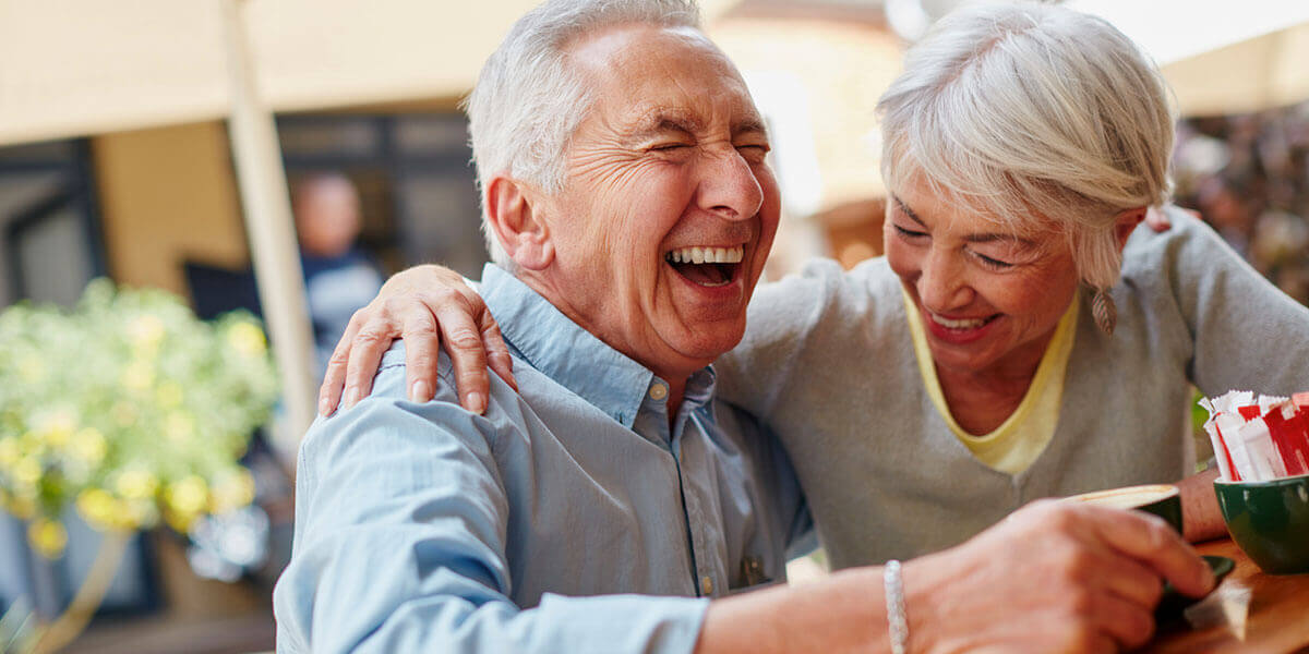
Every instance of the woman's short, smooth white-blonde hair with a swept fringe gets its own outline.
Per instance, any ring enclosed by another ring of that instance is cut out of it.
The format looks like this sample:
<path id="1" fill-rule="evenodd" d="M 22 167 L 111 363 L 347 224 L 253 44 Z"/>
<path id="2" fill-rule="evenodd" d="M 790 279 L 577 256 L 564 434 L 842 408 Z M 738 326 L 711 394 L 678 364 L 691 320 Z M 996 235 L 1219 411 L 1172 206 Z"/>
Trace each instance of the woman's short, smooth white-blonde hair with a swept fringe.
<path id="1" fill-rule="evenodd" d="M 944 18 L 878 102 L 882 177 L 1016 232 L 1059 229 L 1083 283 L 1107 289 L 1114 218 L 1168 200 L 1174 115 L 1158 68 L 1111 25 L 1050 4 Z"/>

